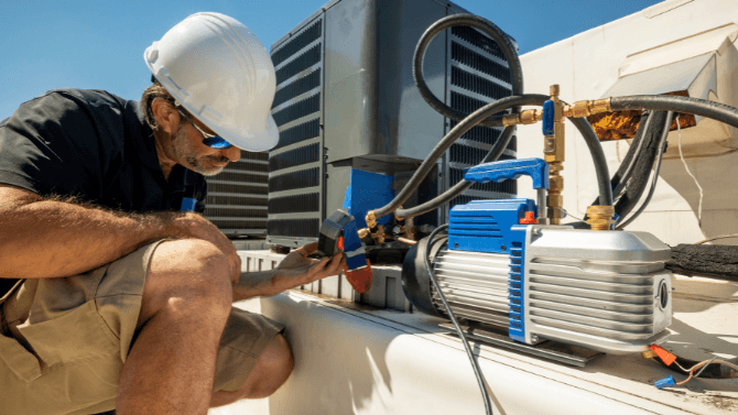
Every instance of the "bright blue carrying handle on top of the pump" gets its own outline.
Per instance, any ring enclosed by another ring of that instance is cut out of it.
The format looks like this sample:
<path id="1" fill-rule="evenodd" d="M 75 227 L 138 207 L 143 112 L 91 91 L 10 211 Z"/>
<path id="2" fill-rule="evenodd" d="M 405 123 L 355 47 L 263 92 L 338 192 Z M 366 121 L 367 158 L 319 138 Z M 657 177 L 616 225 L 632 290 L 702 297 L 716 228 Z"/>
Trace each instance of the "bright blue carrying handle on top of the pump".
<path id="1" fill-rule="evenodd" d="M 514 181 L 522 175 L 531 176 L 534 189 L 549 188 L 549 163 L 542 159 L 506 160 L 464 170 L 464 178 L 473 183 Z"/>

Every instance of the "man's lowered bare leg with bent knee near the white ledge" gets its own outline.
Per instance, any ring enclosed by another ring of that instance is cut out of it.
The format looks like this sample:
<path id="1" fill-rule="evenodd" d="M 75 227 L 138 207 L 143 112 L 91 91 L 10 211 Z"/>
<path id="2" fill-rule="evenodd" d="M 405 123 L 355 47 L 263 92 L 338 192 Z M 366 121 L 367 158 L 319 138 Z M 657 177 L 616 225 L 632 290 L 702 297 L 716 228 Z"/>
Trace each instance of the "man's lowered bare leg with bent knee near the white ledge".
<path id="1" fill-rule="evenodd" d="M 274 393 L 292 373 L 292 350 L 282 335 L 276 335 L 259 357 L 257 364 L 243 385 L 236 391 L 218 391 L 213 394 L 210 407 L 228 405 L 242 398 L 267 397 Z"/>

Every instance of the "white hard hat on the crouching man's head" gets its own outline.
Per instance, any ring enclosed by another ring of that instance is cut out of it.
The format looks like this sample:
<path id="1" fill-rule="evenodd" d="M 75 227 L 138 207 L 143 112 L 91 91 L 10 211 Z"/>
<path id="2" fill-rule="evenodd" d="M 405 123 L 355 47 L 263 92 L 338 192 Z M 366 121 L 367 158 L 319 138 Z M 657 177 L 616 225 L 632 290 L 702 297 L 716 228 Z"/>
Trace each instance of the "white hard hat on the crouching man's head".
<path id="1" fill-rule="evenodd" d="M 243 24 L 196 13 L 143 53 L 149 70 L 187 111 L 229 143 L 265 151 L 279 141 L 269 52 Z"/>

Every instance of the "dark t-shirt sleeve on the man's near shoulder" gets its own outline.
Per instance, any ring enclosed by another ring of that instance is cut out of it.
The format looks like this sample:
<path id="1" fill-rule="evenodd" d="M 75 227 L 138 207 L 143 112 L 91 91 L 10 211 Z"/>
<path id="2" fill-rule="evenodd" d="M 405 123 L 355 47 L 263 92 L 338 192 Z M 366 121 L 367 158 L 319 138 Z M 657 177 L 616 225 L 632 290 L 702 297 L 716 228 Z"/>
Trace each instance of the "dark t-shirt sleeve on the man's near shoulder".
<path id="1" fill-rule="evenodd" d="M 0 124 L 0 183 L 42 196 L 101 192 L 104 154 L 99 131 L 84 100 L 51 91 L 24 102 Z"/>

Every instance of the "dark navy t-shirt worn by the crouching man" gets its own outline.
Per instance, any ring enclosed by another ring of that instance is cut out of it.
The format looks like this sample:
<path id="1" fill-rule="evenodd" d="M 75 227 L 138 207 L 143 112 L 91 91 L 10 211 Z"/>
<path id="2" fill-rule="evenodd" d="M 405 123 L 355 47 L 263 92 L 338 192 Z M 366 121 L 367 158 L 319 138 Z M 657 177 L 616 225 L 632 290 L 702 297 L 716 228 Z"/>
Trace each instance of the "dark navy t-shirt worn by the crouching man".
<path id="1" fill-rule="evenodd" d="M 205 178 L 175 165 L 169 181 L 138 101 L 101 90 L 54 89 L 0 122 L 0 183 L 76 196 L 124 212 L 205 210 Z"/>

